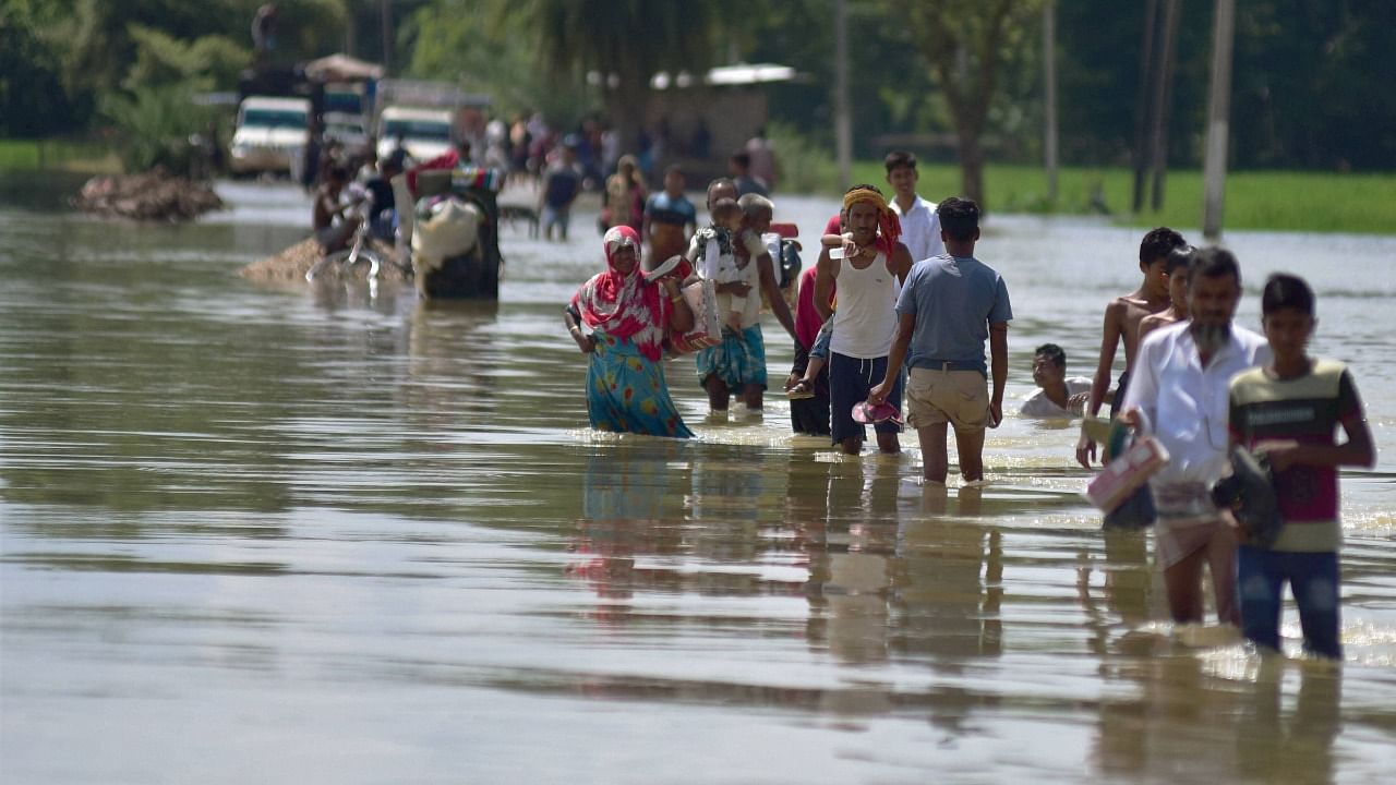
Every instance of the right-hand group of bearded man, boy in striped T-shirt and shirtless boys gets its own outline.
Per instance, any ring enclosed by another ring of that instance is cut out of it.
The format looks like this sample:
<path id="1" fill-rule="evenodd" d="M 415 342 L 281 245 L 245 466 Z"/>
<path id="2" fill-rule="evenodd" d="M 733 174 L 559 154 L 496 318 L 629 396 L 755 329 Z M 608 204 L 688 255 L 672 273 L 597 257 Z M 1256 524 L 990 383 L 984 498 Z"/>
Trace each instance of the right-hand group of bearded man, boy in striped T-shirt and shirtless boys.
<path id="1" fill-rule="evenodd" d="M 1305 651 L 1340 659 L 1337 467 L 1371 465 L 1375 450 L 1351 374 L 1307 353 L 1316 325 L 1314 292 L 1302 278 L 1272 275 L 1261 296 L 1259 335 L 1233 323 L 1241 270 L 1230 251 L 1192 249 L 1159 228 L 1139 246 L 1139 288 L 1106 309 L 1086 411 L 1099 411 L 1124 344 L 1111 413 L 1157 439 L 1168 460 L 1146 487 L 1107 513 L 1106 525 L 1154 528 L 1175 622 L 1203 620 L 1206 567 L 1217 619 L 1279 650 L 1289 582 Z M 1238 521 L 1216 494 L 1237 448 L 1269 467 L 1262 482 L 1283 521 L 1273 539 Z M 1082 436 L 1078 461 L 1089 468 L 1094 457 L 1096 444 Z"/>

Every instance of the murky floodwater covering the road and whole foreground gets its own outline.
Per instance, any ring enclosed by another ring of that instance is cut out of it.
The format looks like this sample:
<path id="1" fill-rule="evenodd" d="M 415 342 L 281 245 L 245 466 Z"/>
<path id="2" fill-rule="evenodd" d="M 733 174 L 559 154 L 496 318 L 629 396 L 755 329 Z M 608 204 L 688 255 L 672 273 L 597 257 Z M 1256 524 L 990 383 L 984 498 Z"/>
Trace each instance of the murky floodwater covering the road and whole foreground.
<path id="1" fill-rule="evenodd" d="M 61 187 L 70 187 L 63 183 Z M 1344 472 L 1330 668 L 1164 623 L 1148 535 L 1103 536 L 1075 430 L 1007 418 L 986 489 L 765 418 L 586 427 L 563 303 L 589 217 L 505 226 L 501 300 L 272 289 L 309 201 L 135 226 L 0 189 L 0 781 L 1390 782 L 1393 464 Z M 783 198 L 807 237 L 835 204 Z M 1139 230 L 1001 217 L 1008 409 L 1086 374 Z M 1235 233 L 1258 323 L 1309 277 L 1318 353 L 1396 433 L 1396 239 Z M 772 386 L 789 341 L 768 317 Z M 914 446 L 914 439 L 906 440 Z"/>

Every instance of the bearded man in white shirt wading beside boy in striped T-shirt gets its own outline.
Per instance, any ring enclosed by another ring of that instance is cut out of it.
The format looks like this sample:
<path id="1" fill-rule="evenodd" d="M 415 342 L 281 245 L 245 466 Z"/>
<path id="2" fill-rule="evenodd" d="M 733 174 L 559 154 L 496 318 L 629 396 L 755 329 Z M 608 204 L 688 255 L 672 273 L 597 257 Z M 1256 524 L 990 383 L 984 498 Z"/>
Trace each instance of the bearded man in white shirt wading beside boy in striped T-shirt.
<path id="1" fill-rule="evenodd" d="M 1168 462 L 1149 480 L 1159 511 L 1156 549 L 1177 623 L 1202 622 L 1202 564 L 1212 570 L 1217 617 L 1238 624 L 1235 535 L 1212 504 L 1227 461 L 1228 383 L 1265 365 L 1265 338 L 1231 324 L 1241 271 L 1223 249 L 1198 251 L 1188 267 L 1191 318 L 1154 330 L 1139 345 L 1138 376 L 1125 391 L 1122 420 L 1153 433 Z"/>

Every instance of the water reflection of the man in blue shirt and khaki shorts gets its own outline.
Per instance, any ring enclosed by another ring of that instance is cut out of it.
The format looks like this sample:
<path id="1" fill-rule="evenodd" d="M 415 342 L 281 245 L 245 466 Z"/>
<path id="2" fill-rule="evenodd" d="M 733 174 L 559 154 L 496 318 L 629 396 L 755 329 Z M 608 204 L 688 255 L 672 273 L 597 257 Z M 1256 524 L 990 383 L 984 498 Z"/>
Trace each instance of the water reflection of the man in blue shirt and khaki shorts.
<path id="1" fill-rule="evenodd" d="M 953 511 L 945 486 L 927 485 L 920 494 L 920 510 L 903 515 L 898 532 L 893 641 L 958 672 L 972 658 L 1004 652 L 1002 535 L 977 520 L 980 487 L 958 489 Z"/>

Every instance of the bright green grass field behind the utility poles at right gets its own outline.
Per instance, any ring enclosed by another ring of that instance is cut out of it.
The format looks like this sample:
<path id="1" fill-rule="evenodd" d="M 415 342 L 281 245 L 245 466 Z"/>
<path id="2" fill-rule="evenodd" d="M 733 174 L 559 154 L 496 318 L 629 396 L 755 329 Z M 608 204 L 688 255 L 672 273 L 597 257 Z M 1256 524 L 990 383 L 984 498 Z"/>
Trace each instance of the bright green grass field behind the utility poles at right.
<path id="1" fill-rule="evenodd" d="M 959 191 L 958 166 L 921 163 L 920 169 L 917 190 L 927 198 Z M 854 165 L 853 179 L 878 186 L 886 182 L 879 162 L 864 161 Z M 1125 169 L 1061 169 L 1055 208 L 1047 204 L 1041 168 L 991 165 L 984 189 L 988 208 L 995 212 L 1086 215 L 1101 212 L 1096 205 L 1103 204 L 1124 225 L 1199 228 L 1202 172 L 1170 172 L 1166 184 L 1163 210 L 1136 215 L 1129 212 L 1134 175 Z M 1223 226 L 1396 235 L 1396 173 L 1233 172 L 1227 176 Z"/>

